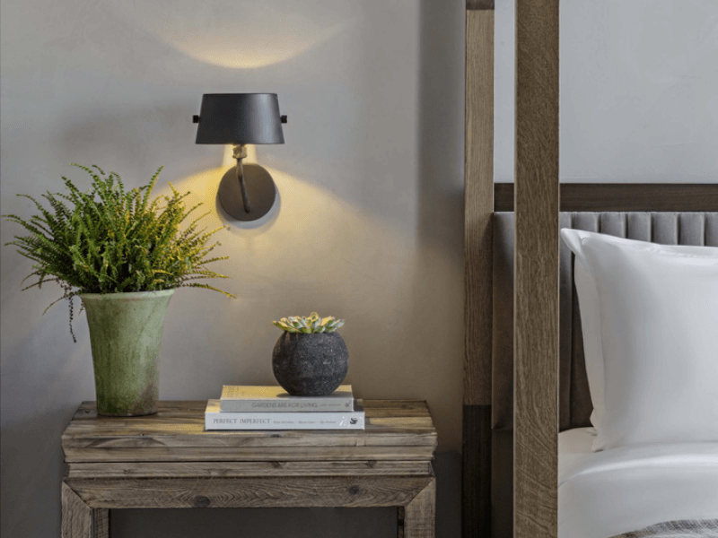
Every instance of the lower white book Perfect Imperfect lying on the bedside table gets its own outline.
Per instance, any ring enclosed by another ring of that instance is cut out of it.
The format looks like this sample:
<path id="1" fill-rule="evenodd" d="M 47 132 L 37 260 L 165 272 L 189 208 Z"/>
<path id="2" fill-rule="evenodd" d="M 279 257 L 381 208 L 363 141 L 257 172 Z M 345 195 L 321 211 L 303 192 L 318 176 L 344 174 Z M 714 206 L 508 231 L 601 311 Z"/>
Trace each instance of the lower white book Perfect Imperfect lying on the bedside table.
<path id="1" fill-rule="evenodd" d="M 348 412 L 225 412 L 208 400 L 205 430 L 363 430 L 364 410 L 356 400 Z"/>

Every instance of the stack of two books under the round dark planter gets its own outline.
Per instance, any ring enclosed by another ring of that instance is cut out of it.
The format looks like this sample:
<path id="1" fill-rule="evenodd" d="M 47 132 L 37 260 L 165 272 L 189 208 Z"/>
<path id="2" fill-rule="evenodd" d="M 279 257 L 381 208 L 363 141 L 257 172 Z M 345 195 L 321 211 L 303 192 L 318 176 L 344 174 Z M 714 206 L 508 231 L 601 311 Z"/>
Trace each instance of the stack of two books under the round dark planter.
<path id="1" fill-rule="evenodd" d="M 280 386 L 222 388 L 207 401 L 206 430 L 363 430 L 364 411 L 351 385 L 328 396 L 292 396 Z"/>

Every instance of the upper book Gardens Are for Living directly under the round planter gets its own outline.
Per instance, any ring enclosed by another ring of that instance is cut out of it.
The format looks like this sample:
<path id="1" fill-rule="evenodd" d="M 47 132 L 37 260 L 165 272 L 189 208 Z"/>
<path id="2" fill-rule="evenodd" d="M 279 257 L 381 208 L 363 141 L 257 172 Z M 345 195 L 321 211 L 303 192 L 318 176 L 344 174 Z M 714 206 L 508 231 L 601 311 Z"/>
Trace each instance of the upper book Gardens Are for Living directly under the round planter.
<path id="1" fill-rule="evenodd" d="M 351 385 L 342 385 L 328 396 L 293 396 L 281 386 L 225 385 L 220 398 L 222 412 L 346 412 L 354 410 Z"/>

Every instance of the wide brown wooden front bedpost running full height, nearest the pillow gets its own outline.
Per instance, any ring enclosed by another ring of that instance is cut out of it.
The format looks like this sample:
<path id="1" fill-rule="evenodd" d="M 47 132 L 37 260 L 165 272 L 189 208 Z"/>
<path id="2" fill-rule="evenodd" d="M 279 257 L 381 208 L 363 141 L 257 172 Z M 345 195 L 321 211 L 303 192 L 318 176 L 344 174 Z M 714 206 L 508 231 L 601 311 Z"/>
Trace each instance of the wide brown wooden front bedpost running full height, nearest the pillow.
<path id="1" fill-rule="evenodd" d="M 558 0 L 516 0 L 514 536 L 557 536 Z"/>

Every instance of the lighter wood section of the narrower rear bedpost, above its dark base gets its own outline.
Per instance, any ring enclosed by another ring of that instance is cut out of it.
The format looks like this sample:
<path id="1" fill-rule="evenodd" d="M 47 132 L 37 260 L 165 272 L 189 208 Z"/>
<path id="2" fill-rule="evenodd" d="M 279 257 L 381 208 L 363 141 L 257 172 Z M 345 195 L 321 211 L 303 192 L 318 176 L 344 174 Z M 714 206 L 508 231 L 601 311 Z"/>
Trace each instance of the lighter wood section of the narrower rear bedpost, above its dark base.
<path id="1" fill-rule="evenodd" d="M 464 404 L 491 404 L 494 12 L 466 13 Z"/>

